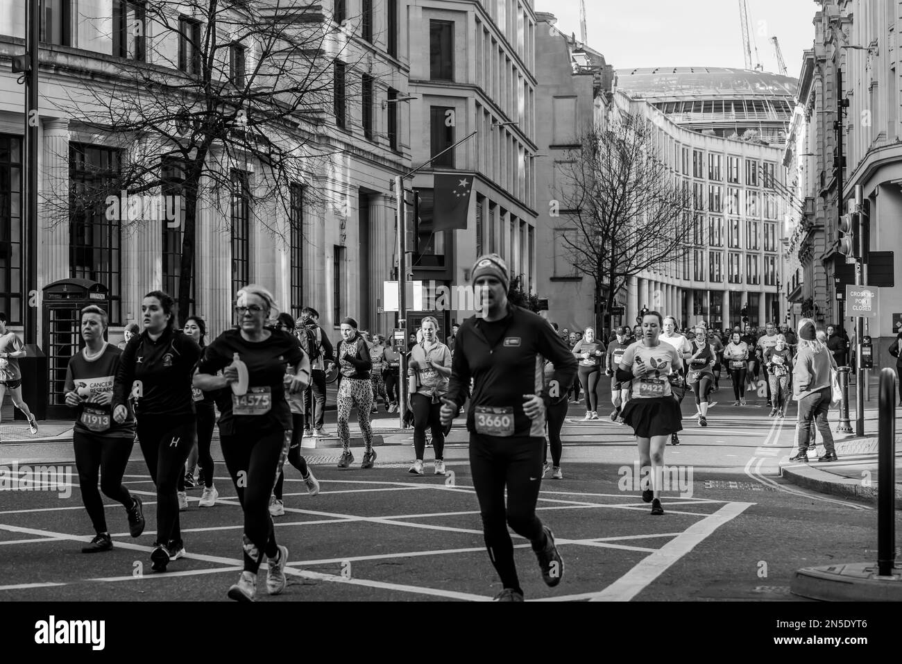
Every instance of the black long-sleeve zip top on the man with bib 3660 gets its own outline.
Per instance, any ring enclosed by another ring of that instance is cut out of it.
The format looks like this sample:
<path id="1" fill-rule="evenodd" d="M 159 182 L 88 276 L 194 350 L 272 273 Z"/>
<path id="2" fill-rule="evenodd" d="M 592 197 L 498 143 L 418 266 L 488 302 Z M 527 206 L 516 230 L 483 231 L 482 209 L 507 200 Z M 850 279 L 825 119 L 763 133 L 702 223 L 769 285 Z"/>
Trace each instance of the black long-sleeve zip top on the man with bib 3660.
<path id="1" fill-rule="evenodd" d="M 548 384 L 543 376 L 546 359 L 555 365 Z M 464 321 L 457 332 L 446 398 L 459 408 L 473 378 L 467 429 L 478 433 L 477 410 L 502 414 L 501 410 L 511 409 L 513 436 L 544 436 L 544 418 L 529 420 L 523 412 L 523 395 L 538 394 L 548 407 L 552 391 L 566 392 L 573 383 L 576 366 L 570 348 L 544 318 L 509 305 L 501 320 L 489 323 L 474 316 Z"/>

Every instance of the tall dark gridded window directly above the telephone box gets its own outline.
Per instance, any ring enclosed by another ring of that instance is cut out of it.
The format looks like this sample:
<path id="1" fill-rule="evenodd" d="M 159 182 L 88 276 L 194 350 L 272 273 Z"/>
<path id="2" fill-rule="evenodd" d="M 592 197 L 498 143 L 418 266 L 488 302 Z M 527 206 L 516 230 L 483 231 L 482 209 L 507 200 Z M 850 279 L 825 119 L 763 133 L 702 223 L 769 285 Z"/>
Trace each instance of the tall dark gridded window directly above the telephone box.
<path id="1" fill-rule="evenodd" d="M 69 274 L 109 289 L 110 325 L 122 324 L 122 227 L 106 218 L 106 193 L 122 170 L 118 150 L 69 143 Z"/>

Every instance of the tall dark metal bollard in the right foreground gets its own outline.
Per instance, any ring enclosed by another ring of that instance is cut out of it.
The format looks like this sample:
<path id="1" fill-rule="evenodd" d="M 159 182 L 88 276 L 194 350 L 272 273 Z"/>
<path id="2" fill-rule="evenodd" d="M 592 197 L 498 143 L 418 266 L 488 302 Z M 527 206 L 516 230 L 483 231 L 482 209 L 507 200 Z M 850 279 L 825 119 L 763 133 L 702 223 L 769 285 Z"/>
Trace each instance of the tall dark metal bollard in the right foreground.
<path id="1" fill-rule="evenodd" d="M 896 372 L 880 372 L 877 456 L 877 567 L 892 576 L 896 561 Z"/>

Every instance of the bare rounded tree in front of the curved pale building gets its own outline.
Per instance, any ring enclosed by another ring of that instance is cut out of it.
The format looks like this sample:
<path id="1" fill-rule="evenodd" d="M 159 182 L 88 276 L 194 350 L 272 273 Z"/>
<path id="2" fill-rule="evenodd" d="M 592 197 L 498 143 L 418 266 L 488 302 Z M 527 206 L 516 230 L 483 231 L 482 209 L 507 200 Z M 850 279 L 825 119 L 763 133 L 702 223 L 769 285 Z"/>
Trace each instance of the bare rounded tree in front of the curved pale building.
<path id="1" fill-rule="evenodd" d="M 644 118 L 624 114 L 609 130 L 585 132 L 560 162 L 554 195 L 569 228 L 563 248 L 575 271 L 594 280 L 599 322 L 631 276 L 683 258 L 699 217 L 651 135 Z"/>

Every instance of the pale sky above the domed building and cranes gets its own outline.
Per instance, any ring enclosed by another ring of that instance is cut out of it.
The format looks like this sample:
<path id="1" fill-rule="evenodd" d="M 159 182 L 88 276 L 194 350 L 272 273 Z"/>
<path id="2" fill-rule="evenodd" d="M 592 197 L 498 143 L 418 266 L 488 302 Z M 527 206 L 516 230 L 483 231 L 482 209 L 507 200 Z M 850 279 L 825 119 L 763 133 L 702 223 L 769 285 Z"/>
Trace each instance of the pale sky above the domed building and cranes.
<path id="1" fill-rule="evenodd" d="M 812 0 L 748 0 L 751 58 L 755 41 L 765 71 L 779 73 L 771 37 L 777 37 L 787 73 L 797 78 L 802 51 L 815 39 Z M 557 16 L 561 32 L 579 39 L 579 0 L 535 0 L 537 12 Z M 585 0 L 588 45 L 614 69 L 731 67 L 743 69 L 737 0 Z"/>

